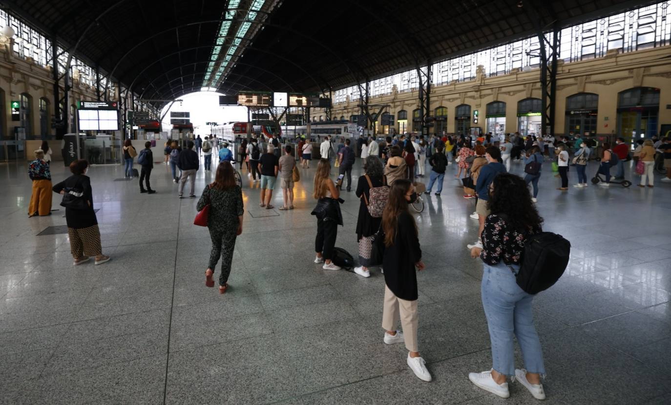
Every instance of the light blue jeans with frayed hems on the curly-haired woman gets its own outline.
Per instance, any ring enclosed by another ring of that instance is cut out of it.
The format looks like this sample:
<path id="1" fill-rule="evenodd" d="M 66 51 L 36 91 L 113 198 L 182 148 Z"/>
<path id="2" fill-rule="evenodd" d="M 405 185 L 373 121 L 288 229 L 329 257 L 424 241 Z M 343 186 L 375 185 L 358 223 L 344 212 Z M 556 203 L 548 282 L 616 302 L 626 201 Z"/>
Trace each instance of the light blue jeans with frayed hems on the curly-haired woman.
<path id="1" fill-rule="evenodd" d="M 533 296 L 525 293 L 515 281 L 519 265 L 483 265 L 482 308 L 492 343 L 493 369 L 504 375 L 515 375 L 513 336 L 516 336 L 525 369 L 545 375 L 541 343 L 533 326 Z"/>

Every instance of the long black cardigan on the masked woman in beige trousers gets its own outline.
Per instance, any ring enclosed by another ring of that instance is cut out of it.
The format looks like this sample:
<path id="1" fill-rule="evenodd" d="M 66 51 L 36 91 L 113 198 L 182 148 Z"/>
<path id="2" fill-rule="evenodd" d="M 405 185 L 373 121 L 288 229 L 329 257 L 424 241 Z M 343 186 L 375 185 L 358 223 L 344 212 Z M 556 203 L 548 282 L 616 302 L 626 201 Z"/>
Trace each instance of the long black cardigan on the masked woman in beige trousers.
<path id="1" fill-rule="evenodd" d="M 384 283 L 401 300 L 417 300 L 417 270 L 421 249 L 415 220 L 409 212 L 401 212 L 394 243 L 384 249 Z"/>

